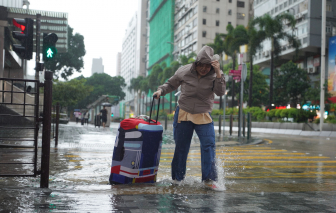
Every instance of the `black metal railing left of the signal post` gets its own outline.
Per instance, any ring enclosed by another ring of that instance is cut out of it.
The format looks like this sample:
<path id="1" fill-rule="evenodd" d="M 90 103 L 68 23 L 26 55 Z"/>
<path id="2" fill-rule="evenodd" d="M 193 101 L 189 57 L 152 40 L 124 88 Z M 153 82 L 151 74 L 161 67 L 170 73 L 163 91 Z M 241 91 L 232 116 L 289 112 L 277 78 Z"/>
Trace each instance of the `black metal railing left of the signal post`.
<path id="1" fill-rule="evenodd" d="M 0 78 L 0 84 L 0 176 L 35 177 L 38 174 L 39 82 Z M 32 87 L 36 88 L 34 92 Z"/>

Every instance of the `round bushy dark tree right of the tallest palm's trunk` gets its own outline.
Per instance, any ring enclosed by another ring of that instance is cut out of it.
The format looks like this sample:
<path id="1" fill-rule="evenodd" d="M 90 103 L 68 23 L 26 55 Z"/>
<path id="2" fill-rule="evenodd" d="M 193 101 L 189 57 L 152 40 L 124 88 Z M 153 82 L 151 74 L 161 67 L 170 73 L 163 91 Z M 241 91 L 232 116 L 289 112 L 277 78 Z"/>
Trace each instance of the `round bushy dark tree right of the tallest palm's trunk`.
<path id="1" fill-rule="evenodd" d="M 310 88 L 310 79 L 305 70 L 300 69 L 292 61 L 275 70 L 274 88 L 277 93 L 276 105 L 296 107 Z"/>

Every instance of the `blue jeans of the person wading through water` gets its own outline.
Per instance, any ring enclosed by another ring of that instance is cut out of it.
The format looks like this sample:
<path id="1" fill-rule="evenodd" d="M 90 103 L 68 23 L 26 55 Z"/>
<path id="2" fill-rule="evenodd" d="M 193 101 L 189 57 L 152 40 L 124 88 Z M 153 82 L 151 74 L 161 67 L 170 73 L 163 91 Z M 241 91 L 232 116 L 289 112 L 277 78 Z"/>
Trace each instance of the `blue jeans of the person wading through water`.
<path id="1" fill-rule="evenodd" d="M 194 124 L 191 121 L 177 123 L 178 114 L 179 107 L 176 108 L 173 123 L 175 152 L 171 164 L 172 179 L 180 181 L 185 177 L 190 143 L 195 130 L 201 142 L 202 181 L 217 181 L 215 129 L 213 122 L 201 125 Z"/>

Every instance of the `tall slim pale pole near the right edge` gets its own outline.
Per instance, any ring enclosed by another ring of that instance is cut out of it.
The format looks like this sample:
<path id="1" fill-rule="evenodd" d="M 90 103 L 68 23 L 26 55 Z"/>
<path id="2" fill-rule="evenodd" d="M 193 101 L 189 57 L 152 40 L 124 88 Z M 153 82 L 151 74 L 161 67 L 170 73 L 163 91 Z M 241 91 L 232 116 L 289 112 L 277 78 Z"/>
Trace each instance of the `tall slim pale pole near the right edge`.
<path id="1" fill-rule="evenodd" d="M 321 97 L 320 97 L 320 131 L 324 123 L 324 83 L 325 83 L 325 40 L 326 40 L 326 0 L 322 0 L 322 31 L 321 31 Z"/>

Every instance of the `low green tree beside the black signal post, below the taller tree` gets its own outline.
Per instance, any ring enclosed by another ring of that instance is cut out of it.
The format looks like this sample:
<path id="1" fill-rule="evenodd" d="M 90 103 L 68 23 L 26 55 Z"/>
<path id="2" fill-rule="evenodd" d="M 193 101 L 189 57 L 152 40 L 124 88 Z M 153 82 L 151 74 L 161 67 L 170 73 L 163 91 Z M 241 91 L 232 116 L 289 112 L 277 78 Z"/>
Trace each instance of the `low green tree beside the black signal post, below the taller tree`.
<path id="1" fill-rule="evenodd" d="M 59 102 L 61 107 L 72 108 L 85 99 L 93 87 L 85 85 L 85 79 L 72 79 L 71 81 L 56 81 L 53 84 L 52 104 Z"/>

